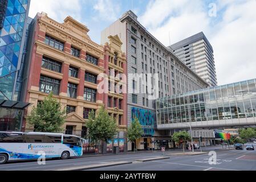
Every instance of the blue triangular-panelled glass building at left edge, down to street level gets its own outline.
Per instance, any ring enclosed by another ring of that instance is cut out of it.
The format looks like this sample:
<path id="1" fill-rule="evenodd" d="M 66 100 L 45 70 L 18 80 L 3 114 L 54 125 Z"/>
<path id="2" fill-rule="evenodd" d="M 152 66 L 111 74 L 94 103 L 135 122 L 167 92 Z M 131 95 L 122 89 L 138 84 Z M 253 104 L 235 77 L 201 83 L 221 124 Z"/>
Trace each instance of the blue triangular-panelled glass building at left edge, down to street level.
<path id="1" fill-rule="evenodd" d="M 21 131 L 23 66 L 30 0 L 0 1 L 0 131 Z"/>

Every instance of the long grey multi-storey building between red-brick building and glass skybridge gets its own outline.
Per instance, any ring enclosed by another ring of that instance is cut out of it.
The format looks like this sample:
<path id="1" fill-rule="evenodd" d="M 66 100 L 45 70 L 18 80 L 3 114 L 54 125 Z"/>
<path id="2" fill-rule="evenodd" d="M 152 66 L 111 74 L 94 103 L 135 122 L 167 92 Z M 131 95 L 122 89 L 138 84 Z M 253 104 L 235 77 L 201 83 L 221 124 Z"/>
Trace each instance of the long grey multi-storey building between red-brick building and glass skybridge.
<path id="1" fill-rule="evenodd" d="M 119 35 L 121 42 L 123 42 L 122 51 L 127 52 L 128 74 L 159 74 L 159 97 L 209 86 L 205 80 L 182 63 L 177 56 L 151 35 L 140 24 L 137 16 L 131 10 L 101 32 L 101 44 L 107 41 L 109 35 Z M 128 126 L 134 117 L 139 118 L 141 125 L 144 126 L 143 138 L 136 142 L 139 150 L 152 148 L 151 138 L 160 135 L 158 131 L 155 131 L 154 126 L 156 124 L 155 100 L 150 100 L 150 94 L 144 92 L 145 85 L 150 80 L 148 77 L 148 79 L 140 81 L 142 84 L 139 86 L 139 93 L 128 93 Z M 128 77 L 128 90 L 135 89 L 136 85 Z M 149 115 L 153 115 L 153 117 L 148 117 Z M 131 149 L 132 147 L 128 145 L 128 150 Z"/>

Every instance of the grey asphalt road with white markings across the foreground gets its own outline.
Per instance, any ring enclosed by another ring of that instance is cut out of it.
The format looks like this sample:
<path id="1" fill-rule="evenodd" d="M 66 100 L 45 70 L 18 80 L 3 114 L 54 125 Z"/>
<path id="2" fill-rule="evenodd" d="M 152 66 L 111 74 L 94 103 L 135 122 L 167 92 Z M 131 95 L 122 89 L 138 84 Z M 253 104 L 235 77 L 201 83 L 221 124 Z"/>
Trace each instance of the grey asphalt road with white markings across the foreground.
<path id="1" fill-rule="evenodd" d="M 220 148 L 220 147 L 219 147 Z M 216 147 L 204 149 L 209 152 Z M 181 152 L 175 150 L 174 152 Z M 96 171 L 222 171 L 222 170 L 249 170 L 256 171 L 256 151 L 231 150 L 216 151 L 217 164 L 209 164 L 208 154 L 194 156 L 169 155 L 170 159 L 151 162 L 136 162 L 137 159 L 147 159 L 162 156 L 162 152 L 147 152 L 139 154 L 86 156 L 68 160 L 47 160 L 46 165 L 37 162 L 12 162 L 0 166 L 1 171 L 48 171 L 62 168 L 91 166 L 111 162 L 133 162 L 121 166 L 96 168 Z"/>

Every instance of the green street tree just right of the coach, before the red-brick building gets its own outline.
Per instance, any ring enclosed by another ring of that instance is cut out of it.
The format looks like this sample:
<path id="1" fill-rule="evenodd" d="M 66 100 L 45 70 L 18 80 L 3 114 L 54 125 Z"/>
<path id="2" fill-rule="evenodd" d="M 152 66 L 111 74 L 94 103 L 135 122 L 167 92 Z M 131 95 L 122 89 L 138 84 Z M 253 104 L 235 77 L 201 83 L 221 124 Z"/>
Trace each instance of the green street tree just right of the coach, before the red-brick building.
<path id="1" fill-rule="evenodd" d="M 88 115 L 88 121 L 86 122 L 86 127 L 89 130 L 88 137 L 92 141 L 101 141 L 102 147 L 101 152 L 103 153 L 103 143 L 108 143 L 108 140 L 113 139 L 116 135 L 116 121 L 113 117 L 108 115 L 108 111 L 105 110 L 104 106 L 95 114 L 92 110 Z"/>

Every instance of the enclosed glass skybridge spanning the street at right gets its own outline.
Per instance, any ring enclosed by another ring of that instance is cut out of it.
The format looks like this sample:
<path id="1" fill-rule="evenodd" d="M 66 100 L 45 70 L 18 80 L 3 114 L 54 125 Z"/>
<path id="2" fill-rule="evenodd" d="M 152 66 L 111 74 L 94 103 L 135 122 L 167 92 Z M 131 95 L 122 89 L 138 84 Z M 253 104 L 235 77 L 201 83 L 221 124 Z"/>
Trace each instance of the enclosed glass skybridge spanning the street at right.
<path id="1" fill-rule="evenodd" d="M 255 79 L 197 90 L 156 101 L 157 129 L 256 125 Z"/>

